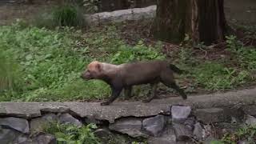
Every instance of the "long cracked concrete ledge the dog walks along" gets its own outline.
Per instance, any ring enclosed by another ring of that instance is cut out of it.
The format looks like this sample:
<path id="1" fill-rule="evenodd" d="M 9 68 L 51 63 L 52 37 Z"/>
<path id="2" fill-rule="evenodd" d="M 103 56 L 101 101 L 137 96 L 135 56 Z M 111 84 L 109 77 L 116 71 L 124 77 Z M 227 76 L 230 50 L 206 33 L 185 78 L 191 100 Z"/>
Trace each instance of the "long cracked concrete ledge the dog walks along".
<path id="1" fill-rule="evenodd" d="M 45 113 L 71 112 L 81 118 L 94 118 L 114 123 L 122 117 L 149 117 L 170 111 L 172 105 L 191 106 L 192 109 L 211 107 L 240 107 L 254 105 L 256 88 L 206 94 L 182 98 L 154 99 L 150 103 L 114 102 L 110 106 L 100 106 L 99 102 L 0 102 L 0 115 L 18 118 L 35 118 Z"/>

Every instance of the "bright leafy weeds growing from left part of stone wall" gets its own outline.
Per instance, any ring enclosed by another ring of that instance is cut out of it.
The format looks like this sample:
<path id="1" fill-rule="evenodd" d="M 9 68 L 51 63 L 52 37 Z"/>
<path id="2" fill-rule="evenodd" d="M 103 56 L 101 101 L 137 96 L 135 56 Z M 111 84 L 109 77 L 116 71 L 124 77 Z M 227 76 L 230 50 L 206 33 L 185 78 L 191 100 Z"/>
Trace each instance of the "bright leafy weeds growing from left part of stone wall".
<path id="1" fill-rule="evenodd" d="M 94 136 L 92 130 L 97 126 L 89 124 L 87 126 L 73 126 L 70 124 L 51 123 L 50 126 L 44 128 L 48 134 L 54 134 L 57 138 L 58 144 L 99 144 L 99 140 Z"/>

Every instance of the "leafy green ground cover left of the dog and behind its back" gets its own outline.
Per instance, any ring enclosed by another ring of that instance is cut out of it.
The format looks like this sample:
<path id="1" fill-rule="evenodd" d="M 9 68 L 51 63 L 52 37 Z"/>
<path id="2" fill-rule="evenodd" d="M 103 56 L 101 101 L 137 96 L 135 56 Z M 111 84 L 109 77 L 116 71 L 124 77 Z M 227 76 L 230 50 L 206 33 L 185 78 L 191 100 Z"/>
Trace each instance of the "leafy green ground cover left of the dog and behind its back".
<path id="1" fill-rule="evenodd" d="M 83 81 L 80 75 L 86 64 L 94 59 L 120 63 L 130 53 L 130 61 L 162 58 L 158 50 L 147 49 L 142 43 L 127 46 L 117 38 L 114 27 L 103 33 L 88 33 L 90 38 L 84 39 L 81 31 L 70 28 L 47 30 L 33 26 L 22 28 L 18 24 L 1 26 L 0 50 L 13 59 L 12 65 L 20 68 L 16 73 L 12 70 L 14 66 L 6 66 L 9 75 L 2 73 L 1 77 L 12 78 L 21 85 L 15 90 L 2 86 L 5 90 L 1 90 L 0 101 L 103 99 L 109 96 L 110 87 L 101 81 Z M 126 54 L 127 49 L 132 50 Z"/>

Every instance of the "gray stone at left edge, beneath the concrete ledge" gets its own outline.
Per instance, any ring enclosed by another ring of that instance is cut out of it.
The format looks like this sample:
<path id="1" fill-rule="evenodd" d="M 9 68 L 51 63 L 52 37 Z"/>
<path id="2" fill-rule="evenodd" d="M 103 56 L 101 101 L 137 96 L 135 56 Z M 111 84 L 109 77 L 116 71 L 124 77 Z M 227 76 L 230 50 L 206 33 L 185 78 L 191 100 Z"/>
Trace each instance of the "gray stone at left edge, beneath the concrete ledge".
<path id="1" fill-rule="evenodd" d="M 18 130 L 25 134 L 30 133 L 29 122 L 27 122 L 27 120 L 23 118 L 0 118 L 0 126 L 6 126 L 8 128 Z"/>

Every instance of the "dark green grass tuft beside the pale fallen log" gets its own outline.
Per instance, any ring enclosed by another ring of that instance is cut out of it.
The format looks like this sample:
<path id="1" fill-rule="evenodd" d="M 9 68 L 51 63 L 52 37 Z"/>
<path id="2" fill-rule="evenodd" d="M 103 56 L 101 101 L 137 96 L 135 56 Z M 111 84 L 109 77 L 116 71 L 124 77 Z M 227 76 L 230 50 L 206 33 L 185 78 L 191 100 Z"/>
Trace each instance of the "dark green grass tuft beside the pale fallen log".
<path id="1" fill-rule="evenodd" d="M 57 26 L 84 26 L 85 20 L 78 6 L 64 4 L 54 8 L 53 20 Z"/>

